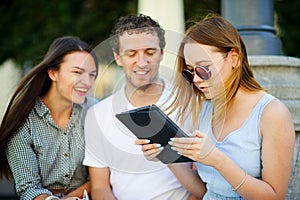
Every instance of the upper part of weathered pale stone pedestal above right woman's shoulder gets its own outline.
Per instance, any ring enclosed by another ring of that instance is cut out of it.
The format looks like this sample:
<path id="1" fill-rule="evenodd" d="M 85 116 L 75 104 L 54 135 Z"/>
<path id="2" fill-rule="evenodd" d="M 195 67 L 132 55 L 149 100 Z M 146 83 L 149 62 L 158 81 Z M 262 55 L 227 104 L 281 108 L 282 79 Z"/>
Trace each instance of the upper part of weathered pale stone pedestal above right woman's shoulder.
<path id="1" fill-rule="evenodd" d="M 287 56 L 249 56 L 258 82 L 289 108 L 300 131 L 300 59 Z"/>

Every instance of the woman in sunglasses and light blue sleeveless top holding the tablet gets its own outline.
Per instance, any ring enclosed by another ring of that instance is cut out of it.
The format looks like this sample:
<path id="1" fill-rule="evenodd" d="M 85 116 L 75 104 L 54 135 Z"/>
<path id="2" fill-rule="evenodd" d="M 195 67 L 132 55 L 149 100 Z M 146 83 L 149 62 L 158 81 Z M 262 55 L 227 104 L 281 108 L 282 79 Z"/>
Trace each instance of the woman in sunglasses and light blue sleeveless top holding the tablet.
<path id="1" fill-rule="evenodd" d="M 177 110 L 182 124 L 192 116 L 195 131 L 169 144 L 195 161 L 199 175 L 169 165 L 177 178 L 205 200 L 285 199 L 293 122 L 287 107 L 255 80 L 237 30 L 219 16 L 195 23 L 180 45 L 177 72 L 182 76 L 169 111 Z M 156 144 L 136 143 L 157 160 Z"/>

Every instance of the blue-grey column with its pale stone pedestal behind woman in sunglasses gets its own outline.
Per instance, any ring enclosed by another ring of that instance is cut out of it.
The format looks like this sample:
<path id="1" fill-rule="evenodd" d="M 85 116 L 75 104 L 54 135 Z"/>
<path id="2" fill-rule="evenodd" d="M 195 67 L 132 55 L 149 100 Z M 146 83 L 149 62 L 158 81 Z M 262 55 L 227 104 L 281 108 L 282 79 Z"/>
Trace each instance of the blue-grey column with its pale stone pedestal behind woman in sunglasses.
<path id="1" fill-rule="evenodd" d="M 222 0 L 221 6 L 222 16 L 237 28 L 246 44 L 255 78 L 292 114 L 296 141 L 286 199 L 299 199 L 300 59 L 281 55 L 281 42 L 274 28 L 273 0 Z"/>

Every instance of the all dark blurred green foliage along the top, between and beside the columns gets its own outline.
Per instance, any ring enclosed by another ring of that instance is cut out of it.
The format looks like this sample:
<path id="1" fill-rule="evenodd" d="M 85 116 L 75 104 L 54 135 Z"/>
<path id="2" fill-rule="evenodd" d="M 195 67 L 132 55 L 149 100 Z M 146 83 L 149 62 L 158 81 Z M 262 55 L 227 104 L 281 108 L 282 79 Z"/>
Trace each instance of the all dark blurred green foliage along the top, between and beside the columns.
<path id="1" fill-rule="evenodd" d="M 185 19 L 220 13 L 221 0 L 184 0 Z M 300 57 L 300 1 L 274 0 L 276 28 L 286 56 Z M 40 61 L 54 38 L 79 36 L 98 45 L 117 18 L 136 13 L 137 0 L 1 0 L 0 63 L 13 58 L 21 67 Z"/>

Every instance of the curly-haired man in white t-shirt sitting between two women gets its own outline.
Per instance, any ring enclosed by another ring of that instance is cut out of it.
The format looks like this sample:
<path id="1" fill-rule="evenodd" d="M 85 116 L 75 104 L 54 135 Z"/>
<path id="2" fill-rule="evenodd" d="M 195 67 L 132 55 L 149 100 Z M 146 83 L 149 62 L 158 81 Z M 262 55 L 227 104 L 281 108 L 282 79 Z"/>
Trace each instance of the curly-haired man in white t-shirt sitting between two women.
<path id="1" fill-rule="evenodd" d="M 154 103 L 163 109 L 171 95 L 170 86 L 159 76 L 164 34 L 157 22 L 142 14 L 121 17 L 112 31 L 111 46 L 116 63 L 124 69 L 125 84 L 86 116 L 83 164 L 89 167 L 93 200 L 189 198 L 166 165 L 145 159 L 134 143 L 137 138 L 115 117 Z"/>

